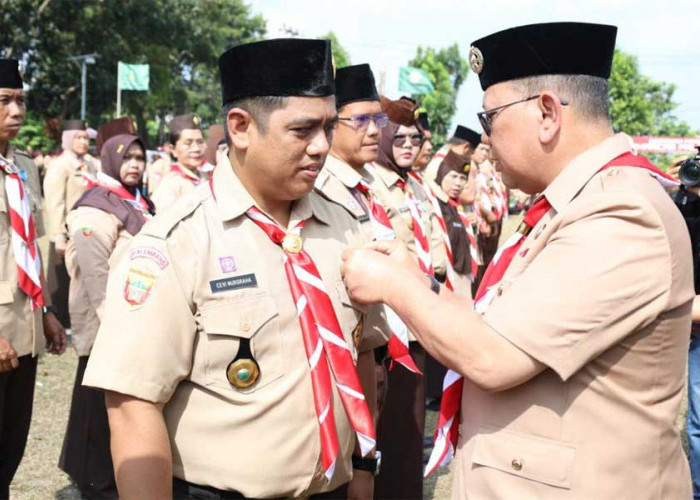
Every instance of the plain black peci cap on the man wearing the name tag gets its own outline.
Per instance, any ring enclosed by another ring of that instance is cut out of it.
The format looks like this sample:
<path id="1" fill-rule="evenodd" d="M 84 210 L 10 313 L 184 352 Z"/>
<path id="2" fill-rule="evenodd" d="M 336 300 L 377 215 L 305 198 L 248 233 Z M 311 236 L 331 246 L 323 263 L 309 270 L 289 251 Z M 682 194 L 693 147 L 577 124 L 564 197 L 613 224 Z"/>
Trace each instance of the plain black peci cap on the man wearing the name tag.
<path id="1" fill-rule="evenodd" d="M 238 45 L 219 57 L 223 104 L 246 97 L 335 93 L 328 40 L 280 38 Z"/>

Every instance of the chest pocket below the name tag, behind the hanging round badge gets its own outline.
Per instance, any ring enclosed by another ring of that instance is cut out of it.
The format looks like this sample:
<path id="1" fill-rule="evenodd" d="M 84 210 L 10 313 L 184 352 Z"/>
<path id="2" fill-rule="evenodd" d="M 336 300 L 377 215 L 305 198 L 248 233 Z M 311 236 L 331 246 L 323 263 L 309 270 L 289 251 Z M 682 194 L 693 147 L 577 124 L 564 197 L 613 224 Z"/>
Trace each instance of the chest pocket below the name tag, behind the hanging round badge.
<path id="1" fill-rule="evenodd" d="M 284 375 L 284 356 L 278 310 L 267 294 L 254 294 L 205 304 L 200 309 L 205 341 L 205 385 L 238 393 L 252 393 Z M 226 368 L 238 354 L 241 339 L 260 367 L 260 378 L 242 389 L 232 385 Z"/>

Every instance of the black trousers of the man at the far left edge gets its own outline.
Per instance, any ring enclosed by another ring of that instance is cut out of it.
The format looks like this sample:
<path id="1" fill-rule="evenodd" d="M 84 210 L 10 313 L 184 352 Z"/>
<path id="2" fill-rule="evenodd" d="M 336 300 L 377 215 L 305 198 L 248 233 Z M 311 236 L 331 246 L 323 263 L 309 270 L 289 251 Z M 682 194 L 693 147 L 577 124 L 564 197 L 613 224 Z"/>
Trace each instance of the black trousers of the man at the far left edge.
<path id="1" fill-rule="evenodd" d="M 24 455 L 32 420 L 37 358 L 19 358 L 19 367 L 0 373 L 0 499 L 10 497 L 10 483 Z"/>

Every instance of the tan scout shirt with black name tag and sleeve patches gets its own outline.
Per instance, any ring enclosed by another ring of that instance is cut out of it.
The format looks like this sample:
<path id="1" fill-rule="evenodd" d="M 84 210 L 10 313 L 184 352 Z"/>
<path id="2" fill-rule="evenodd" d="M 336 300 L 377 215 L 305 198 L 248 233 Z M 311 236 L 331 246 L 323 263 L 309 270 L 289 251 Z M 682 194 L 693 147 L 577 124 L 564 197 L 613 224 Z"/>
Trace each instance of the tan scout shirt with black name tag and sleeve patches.
<path id="1" fill-rule="evenodd" d="M 167 403 L 178 478 L 255 498 L 332 491 L 351 478 L 355 437 L 332 384 L 339 456 L 324 484 L 284 253 L 245 215 L 255 203 L 228 161 L 212 185 L 216 200 L 209 183 L 200 185 L 115 253 L 84 384 Z M 366 239 L 344 209 L 314 192 L 294 203 L 290 227 L 300 220 L 304 249 L 353 346 L 361 313 L 343 284 L 341 254 Z M 260 366 L 247 389 L 226 376 L 242 339 Z"/>

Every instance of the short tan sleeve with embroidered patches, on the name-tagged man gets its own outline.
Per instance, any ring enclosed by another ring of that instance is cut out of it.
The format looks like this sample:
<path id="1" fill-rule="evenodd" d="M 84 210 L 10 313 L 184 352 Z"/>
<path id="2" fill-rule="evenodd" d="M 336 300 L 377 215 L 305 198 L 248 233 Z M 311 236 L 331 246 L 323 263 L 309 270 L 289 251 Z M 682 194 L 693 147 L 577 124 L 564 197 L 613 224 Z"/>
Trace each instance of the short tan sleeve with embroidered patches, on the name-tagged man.
<path id="1" fill-rule="evenodd" d="M 115 252 L 84 385 L 166 403 L 190 373 L 197 334 L 192 290 L 171 248 L 190 252 L 182 241 L 171 247 L 144 234 Z"/>

